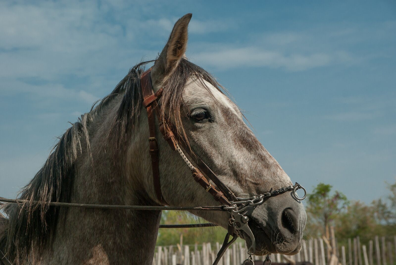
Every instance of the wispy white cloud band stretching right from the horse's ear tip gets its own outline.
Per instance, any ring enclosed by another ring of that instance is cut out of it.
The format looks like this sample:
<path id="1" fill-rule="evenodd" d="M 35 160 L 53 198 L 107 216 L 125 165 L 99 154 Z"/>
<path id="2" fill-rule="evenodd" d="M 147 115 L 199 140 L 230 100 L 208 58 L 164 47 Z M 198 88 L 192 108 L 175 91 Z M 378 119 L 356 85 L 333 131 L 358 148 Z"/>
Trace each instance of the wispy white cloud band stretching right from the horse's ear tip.
<path id="1" fill-rule="evenodd" d="M 219 70 L 237 67 L 269 67 L 286 71 L 305 71 L 329 65 L 350 66 L 378 58 L 380 53 L 360 53 L 357 45 L 372 38 L 389 38 L 385 32 L 395 23 L 357 28 L 333 24 L 326 29 L 304 31 L 251 32 L 246 38 L 230 43 L 204 43 L 194 48 L 198 63 Z M 385 28 L 386 30 L 383 30 Z M 367 32 L 373 32 L 372 34 Z M 382 33 L 380 33 L 382 32 Z"/>

